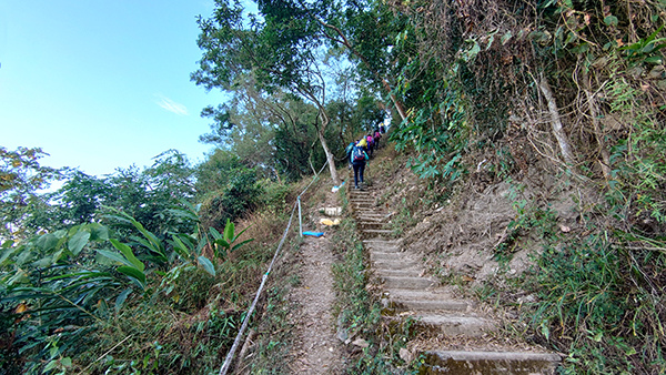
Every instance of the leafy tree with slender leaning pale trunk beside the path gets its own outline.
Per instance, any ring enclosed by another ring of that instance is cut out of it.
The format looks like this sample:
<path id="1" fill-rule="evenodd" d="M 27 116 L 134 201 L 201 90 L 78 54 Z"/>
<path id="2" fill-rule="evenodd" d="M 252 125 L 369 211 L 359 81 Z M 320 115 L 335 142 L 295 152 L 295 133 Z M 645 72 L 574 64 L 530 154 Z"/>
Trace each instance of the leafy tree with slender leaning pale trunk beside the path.
<path id="1" fill-rule="evenodd" d="M 317 53 L 323 49 L 316 19 L 289 1 L 260 1 L 259 14 L 243 17 L 240 1 L 220 0 L 212 18 L 199 19 L 199 47 L 204 51 L 200 68 L 192 74 L 206 89 L 232 91 L 236 80 L 252 72 L 266 92 L 281 88 L 313 103 L 319 111 L 314 125 L 329 162 L 331 178 L 339 184 L 333 153 L 325 131 L 326 80 Z"/>

